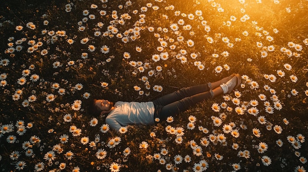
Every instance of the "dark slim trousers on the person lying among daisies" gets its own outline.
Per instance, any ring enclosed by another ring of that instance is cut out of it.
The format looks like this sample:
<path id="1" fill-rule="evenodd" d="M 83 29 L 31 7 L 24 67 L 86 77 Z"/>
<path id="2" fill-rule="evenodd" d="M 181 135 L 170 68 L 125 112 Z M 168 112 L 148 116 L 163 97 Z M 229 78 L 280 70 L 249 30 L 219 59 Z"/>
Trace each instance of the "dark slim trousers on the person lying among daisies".
<path id="1" fill-rule="evenodd" d="M 166 120 L 167 117 L 175 116 L 190 106 L 209 98 L 211 98 L 211 93 L 208 84 L 182 88 L 153 100 L 154 119 Z"/>

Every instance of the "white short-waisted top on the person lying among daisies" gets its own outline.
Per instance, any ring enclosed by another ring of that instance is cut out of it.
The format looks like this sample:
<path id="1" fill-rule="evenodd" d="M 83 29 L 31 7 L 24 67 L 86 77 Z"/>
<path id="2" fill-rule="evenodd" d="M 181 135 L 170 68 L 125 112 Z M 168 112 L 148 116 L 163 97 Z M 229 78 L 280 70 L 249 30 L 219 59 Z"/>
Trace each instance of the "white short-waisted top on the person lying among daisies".
<path id="1" fill-rule="evenodd" d="M 154 124 L 154 104 L 148 102 L 118 101 L 116 107 L 106 117 L 111 129 L 119 131 L 121 126 L 132 124 Z"/>

